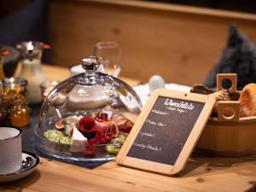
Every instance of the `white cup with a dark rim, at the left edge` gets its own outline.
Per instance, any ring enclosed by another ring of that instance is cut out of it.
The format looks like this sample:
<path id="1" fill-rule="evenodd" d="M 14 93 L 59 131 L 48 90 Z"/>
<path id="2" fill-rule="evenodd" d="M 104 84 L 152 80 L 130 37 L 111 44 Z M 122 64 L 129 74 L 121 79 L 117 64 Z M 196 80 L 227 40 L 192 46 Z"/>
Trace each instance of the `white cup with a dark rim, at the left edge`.
<path id="1" fill-rule="evenodd" d="M 20 171 L 21 150 L 21 130 L 0 127 L 0 175 Z"/>

